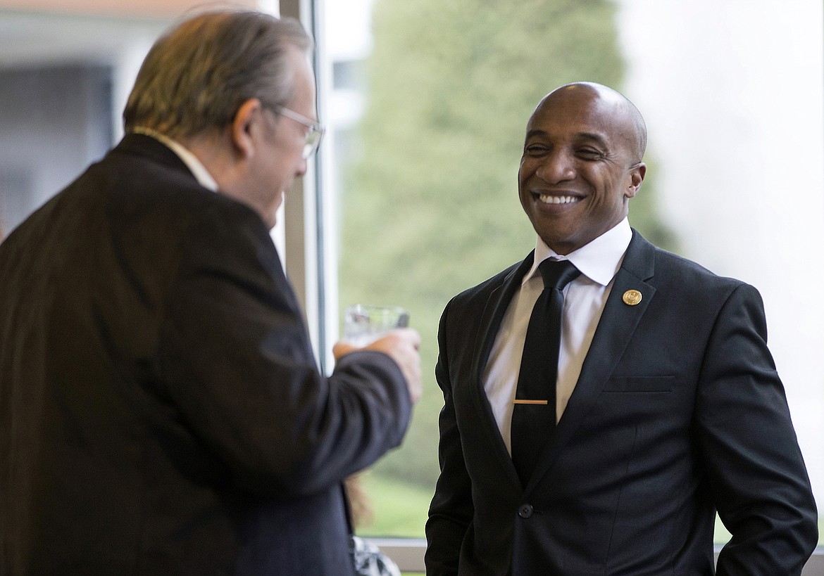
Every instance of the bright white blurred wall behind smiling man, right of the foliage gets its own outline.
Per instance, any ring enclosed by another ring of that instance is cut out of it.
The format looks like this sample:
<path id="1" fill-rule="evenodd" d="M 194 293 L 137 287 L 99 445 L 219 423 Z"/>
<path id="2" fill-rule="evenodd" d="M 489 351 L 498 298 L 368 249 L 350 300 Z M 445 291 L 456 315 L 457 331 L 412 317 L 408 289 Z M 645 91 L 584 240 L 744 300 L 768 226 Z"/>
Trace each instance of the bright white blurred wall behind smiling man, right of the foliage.
<path id="1" fill-rule="evenodd" d="M 761 290 L 821 509 L 822 2 L 618 3 L 625 92 L 648 123 L 663 215 L 684 255 Z"/>

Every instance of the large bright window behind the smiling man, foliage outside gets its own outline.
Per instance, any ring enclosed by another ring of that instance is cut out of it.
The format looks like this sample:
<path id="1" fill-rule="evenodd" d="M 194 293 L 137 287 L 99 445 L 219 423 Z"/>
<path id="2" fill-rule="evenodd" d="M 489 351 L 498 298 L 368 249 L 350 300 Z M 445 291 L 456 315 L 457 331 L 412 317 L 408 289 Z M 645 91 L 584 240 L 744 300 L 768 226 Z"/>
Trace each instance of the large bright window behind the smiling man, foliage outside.
<path id="1" fill-rule="evenodd" d="M 358 532 L 423 536 L 437 476 L 439 314 L 531 249 L 517 202 L 524 126 L 541 95 L 580 79 L 616 86 L 647 120 L 650 169 L 632 224 L 761 290 L 824 501 L 824 305 L 810 297 L 824 281 L 820 2 L 725 5 L 711 19 L 683 2 L 539 4 L 319 4 L 331 133 L 321 165 L 339 262 L 330 310 L 339 325 L 348 304 L 400 304 L 424 337 L 424 400 L 403 448 L 363 477 L 375 518 Z M 557 34 L 536 22 L 570 38 L 540 44 Z M 778 281 L 765 262 L 798 281 Z"/>

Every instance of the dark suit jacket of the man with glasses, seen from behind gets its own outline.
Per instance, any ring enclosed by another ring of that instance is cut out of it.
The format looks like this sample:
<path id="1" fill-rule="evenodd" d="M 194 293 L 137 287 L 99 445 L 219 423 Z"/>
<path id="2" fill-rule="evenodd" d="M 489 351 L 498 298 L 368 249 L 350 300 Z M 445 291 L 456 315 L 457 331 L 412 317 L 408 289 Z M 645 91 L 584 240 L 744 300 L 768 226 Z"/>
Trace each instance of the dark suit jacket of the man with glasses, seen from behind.
<path id="1" fill-rule="evenodd" d="M 250 208 L 131 135 L 0 244 L 0 574 L 351 574 L 386 355 L 316 368 Z"/>

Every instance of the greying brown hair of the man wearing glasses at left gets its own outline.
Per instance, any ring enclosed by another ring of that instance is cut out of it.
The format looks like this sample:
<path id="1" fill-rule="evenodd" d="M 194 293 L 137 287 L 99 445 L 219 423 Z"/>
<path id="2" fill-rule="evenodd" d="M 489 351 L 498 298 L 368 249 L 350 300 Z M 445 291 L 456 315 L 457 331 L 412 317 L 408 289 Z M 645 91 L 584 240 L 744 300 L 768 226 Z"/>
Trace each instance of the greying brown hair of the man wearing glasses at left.
<path id="1" fill-rule="evenodd" d="M 294 91 L 289 46 L 304 53 L 312 47 L 292 18 L 230 10 L 183 21 L 143 60 L 123 112 L 125 130 L 193 137 L 225 128 L 250 98 L 288 105 Z"/>

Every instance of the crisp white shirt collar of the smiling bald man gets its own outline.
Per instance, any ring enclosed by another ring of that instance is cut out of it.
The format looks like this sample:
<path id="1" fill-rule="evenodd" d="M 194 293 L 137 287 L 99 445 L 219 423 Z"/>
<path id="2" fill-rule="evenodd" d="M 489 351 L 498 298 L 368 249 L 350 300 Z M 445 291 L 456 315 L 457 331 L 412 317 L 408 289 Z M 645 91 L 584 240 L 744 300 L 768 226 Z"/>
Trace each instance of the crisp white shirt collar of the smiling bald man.
<path id="1" fill-rule="evenodd" d="M 627 218 L 589 244 L 566 256 L 555 253 L 538 236 L 535 245 L 535 261 L 532 262 L 529 272 L 523 276 L 522 284 L 536 274 L 538 265 L 546 258 L 555 258 L 557 260 L 569 260 L 581 271 L 583 276 L 606 286 L 618 272 L 620 263 L 624 260 L 624 253 L 630 246 L 631 239 L 632 229 Z"/>

